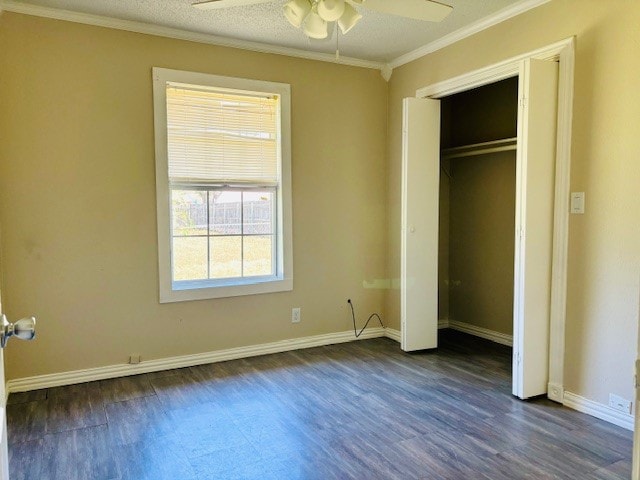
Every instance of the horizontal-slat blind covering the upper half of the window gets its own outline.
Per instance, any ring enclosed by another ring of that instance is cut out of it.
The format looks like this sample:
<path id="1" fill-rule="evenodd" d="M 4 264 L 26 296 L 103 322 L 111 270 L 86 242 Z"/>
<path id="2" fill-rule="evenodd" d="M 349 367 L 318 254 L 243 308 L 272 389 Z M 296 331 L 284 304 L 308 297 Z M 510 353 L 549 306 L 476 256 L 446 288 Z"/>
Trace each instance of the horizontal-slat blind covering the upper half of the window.
<path id="1" fill-rule="evenodd" d="M 277 185 L 277 97 L 167 85 L 172 184 Z"/>

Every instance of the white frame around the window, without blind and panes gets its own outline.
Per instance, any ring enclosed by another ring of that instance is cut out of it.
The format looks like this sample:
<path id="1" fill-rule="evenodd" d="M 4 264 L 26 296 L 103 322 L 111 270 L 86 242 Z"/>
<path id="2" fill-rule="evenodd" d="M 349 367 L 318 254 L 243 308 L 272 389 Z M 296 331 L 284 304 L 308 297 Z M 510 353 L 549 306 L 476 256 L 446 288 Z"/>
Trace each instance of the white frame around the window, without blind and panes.
<path id="1" fill-rule="evenodd" d="M 293 290 L 293 239 L 291 213 L 291 87 L 285 83 L 223 77 L 206 73 L 153 68 L 153 107 L 156 152 L 156 202 L 158 217 L 158 274 L 160 303 L 236 297 Z M 194 281 L 191 285 L 172 279 L 171 189 L 167 149 L 167 84 L 225 88 L 260 92 L 280 97 L 280 181 L 276 189 L 276 275 L 220 281 Z"/>

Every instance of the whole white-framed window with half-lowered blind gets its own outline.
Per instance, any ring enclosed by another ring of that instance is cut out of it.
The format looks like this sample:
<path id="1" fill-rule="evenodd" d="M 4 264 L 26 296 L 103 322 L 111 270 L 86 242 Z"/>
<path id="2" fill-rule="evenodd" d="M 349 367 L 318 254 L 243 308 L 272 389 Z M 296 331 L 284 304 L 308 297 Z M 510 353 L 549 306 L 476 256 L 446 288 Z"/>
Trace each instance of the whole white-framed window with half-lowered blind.
<path id="1" fill-rule="evenodd" d="M 153 80 L 160 302 L 291 290 L 289 85 Z"/>

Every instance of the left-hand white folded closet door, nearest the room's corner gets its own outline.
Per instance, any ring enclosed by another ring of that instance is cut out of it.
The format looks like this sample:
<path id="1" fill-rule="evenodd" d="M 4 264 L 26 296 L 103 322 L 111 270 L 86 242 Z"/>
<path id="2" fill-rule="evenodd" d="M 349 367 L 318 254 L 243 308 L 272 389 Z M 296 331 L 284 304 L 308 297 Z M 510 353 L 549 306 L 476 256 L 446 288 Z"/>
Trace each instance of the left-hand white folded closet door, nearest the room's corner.
<path id="1" fill-rule="evenodd" d="M 402 349 L 438 346 L 440 102 L 405 98 L 402 123 Z"/>

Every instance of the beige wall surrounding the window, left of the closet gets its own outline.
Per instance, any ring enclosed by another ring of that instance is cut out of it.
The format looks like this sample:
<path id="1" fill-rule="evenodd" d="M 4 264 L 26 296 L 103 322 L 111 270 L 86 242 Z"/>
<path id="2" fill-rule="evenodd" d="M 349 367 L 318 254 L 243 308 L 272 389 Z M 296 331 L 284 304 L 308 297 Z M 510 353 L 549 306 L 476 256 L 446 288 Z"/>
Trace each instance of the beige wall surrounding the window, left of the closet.
<path id="1" fill-rule="evenodd" d="M 4 307 L 39 321 L 8 378 L 345 331 L 348 297 L 383 313 L 379 72 L 10 13 L 0 45 Z M 152 66 L 291 84 L 293 292 L 158 303 Z"/>

